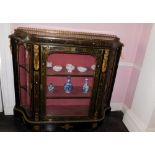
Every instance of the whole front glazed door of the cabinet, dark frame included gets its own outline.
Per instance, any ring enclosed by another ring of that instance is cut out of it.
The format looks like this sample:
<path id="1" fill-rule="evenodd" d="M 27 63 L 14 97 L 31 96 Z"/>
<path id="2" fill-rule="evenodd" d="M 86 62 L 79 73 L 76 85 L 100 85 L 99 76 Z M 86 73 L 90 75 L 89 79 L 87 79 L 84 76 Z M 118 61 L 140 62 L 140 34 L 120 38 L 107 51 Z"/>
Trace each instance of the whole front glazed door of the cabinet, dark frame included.
<path id="1" fill-rule="evenodd" d="M 42 45 L 42 119 L 94 118 L 102 57 L 100 49 Z"/>

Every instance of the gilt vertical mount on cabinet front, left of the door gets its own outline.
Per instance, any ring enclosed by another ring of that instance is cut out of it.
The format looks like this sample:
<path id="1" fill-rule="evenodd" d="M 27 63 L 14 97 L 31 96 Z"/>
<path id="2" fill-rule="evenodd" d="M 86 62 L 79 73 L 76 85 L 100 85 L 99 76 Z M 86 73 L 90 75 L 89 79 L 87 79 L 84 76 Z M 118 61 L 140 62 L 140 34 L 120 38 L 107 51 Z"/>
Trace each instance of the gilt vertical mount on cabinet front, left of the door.
<path id="1" fill-rule="evenodd" d="M 34 45 L 34 69 L 39 69 L 39 46 Z"/>

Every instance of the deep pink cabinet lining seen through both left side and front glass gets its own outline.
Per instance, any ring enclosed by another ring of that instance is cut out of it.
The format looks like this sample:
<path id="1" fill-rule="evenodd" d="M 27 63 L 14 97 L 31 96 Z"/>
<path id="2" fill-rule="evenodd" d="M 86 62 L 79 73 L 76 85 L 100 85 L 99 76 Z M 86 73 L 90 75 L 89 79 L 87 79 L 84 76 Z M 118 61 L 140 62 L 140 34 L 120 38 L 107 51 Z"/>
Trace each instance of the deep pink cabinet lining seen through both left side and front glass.
<path id="1" fill-rule="evenodd" d="M 19 51 L 20 51 L 19 64 L 26 65 L 28 59 L 26 59 L 26 50 L 24 46 L 22 45 L 19 46 Z M 96 63 L 96 58 L 90 55 L 51 54 L 48 57 L 48 61 L 52 62 L 53 66 L 54 65 L 66 66 L 66 64 L 73 64 L 75 67 L 83 66 L 83 67 L 90 68 L 91 65 L 94 65 Z M 22 106 L 27 107 L 30 105 L 30 98 L 29 98 L 28 87 L 27 87 L 27 81 L 29 81 L 28 79 L 29 76 L 28 76 L 27 71 L 22 67 L 19 67 L 19 74 L 20 74 L 20 85 L 27 88 L 27 91 L 24 90 L 23 88 L 20 89 L 21 103 L 22 103 Z M 72 77 L 71 80 L 72 80 L 73 87 L 78 86 L 82 88 L 85 78 L 86 77 Z M 88 78 L 89 86 L 93 87 L 94 78 L 93 77 L 87 77 L 87 78 Z M 64 86 L 67 80 L 67 76 L 66 77 L 47 76 L 46 80 L 47 80 L 47 85 L 49 83 L 53 83 L 53 85 L 56 88 L 57 86 Z M 46 108 L 47 108 L 48 113 L 52 113 L 52 108 L 48 109 L 48 106 L 58 106 L 58 107 L 63 106 L 64 107 L 64 106 L 70 105 L 70 106 L 75 106 L 75 107 L 78 106 L 79 108 L 80 106 L 81 107 L 88 106 L 87 109 L 89 109 L 89 104 L 90 104 L 90 99 L 47 99 L 46 100 Z M 86 111 L 88 112 L 88 110 Z"/>

